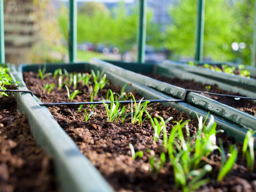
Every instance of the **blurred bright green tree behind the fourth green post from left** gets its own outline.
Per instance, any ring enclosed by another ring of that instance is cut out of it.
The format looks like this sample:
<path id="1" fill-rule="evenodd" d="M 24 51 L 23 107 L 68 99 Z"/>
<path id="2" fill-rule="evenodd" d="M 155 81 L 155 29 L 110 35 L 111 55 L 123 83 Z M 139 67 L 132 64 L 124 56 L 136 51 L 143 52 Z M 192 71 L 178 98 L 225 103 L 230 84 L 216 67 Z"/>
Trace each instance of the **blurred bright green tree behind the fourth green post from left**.
<path id="1" fill-rule="evenodd" d="M 173 23 L 167 29 L 166 47 L 179 56 L 194 58 L 196 0 L 182 0 L 172 7 Z M 236 18 L 230 1 L 205 1 L 204 58 L 233 60 L 231 44 L 236 39 Z"/>

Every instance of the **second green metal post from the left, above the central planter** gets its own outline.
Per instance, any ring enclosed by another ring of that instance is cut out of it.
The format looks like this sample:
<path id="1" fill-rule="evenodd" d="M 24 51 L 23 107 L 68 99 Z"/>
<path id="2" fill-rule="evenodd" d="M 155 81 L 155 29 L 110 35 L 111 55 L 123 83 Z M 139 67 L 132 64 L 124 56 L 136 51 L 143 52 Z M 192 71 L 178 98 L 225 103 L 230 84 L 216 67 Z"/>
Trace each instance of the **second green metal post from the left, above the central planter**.
<path id="1" fill-rule="evenodd" d="M 77 39 L 77 3 L 69 0 L 69 61 L 76 62 L 76 39 Z"/>

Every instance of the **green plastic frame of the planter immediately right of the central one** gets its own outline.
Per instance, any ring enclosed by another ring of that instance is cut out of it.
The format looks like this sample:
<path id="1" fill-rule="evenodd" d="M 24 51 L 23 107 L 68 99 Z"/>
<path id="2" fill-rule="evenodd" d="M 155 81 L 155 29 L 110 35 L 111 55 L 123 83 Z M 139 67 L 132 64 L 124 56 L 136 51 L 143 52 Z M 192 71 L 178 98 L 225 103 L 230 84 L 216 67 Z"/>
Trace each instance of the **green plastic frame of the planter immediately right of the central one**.
<path id="1" fill-rule="evenodd" d="M 91 60 L 91 62 L 94 65 L 103 66 L 104 70 L 110 70 L 112 73 L 120 74 L 121 76 L 125 76 L 129 80 L 136 81 L 137 83 L 151 87 L 155 90 L 163 92 L 164 94 L 170 95 L 177 99 L 183 98 L 186 91 L 185 89 L 171 85 L 171 84 L 166 84 L 161 81 L 157 81 L 155 79 L 149 78 L 147 76 L 136 74 L 134 72 L 137 72 L 137 73 L 143 72 L 143 73 L 150 73 L 150 74 L 153 73 L 153 74 L 162 75 L 162 76 L 171 77 L 171 78 L 176 77 L 179 79 L 195 79 L 198 82 L 205 82 L 209 84 L 216 83 L 218 84 L 218 86 L 220 86 L 225 90 L 233 90 L 241 93 L 243 92 L 247 96 L 254 97 L 254 98 L 256 97 L 256 94 L 254 92 L 250 92 L 242 88 L 237 88 L 237 87 L 224 84 L 209 78 L 201 77 L 196 74 L 191 74 L 176 68 L 170 68 L 163 65 L 147 65 L 147 64 L 138 64 L 138 63 L 128 63 L 125 65 L 125 63 L 122 63 L 122 62 L 113 62 L 117 66 L 121 66 L 123 68 L 134 71 L 132 72 L 127 70 L 121 70 L 119 67 L 113 67 L 113 65 L 109 64 L 108 62 L 104 62 L 98 59 L 93 59 Z M 215 100 L 209 99 L 207 97 L 204 97 L 194 92 L 188 92 L 185 100 L 187 103 L 193 106 L 196 106 L 197 108 L 204 109 L 205 111 L 210 111 L 211 114 L 216 114 L 217 116 L 221 116 L 222 118 L 231 120 L 236 124 L 241 125 L 245 129 L 248 129 L 248 128 L 251 128 L 253 130 L 255 129 L 255 126 L 253 123 L 256 121 L 255 116 L 249 115 L 247 113 L 239 111 L 225 104 L 216 102 Z M 238 102 L 240 102 L 240 100 Z M 245 100 L 245 102 L 247 102 L 247 100 Z M 227 123 L 227 120 L 223 120 L 223 121 L 226 121 Z"/>

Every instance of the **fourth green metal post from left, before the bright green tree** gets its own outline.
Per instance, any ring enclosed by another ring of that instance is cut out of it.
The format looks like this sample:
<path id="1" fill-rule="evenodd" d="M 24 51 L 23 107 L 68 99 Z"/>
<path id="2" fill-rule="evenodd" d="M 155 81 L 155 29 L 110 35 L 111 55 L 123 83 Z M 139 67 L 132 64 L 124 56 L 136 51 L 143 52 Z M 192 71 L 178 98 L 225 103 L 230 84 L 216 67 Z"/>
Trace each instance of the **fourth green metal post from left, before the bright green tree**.
<path id="1" fill-rule="evenodd" d="M 197 61 L 203 60 L 204 7 L 205 7 L 205 0 L 197 0 L 196 55 L 195 55 L 195 60 Z"/>

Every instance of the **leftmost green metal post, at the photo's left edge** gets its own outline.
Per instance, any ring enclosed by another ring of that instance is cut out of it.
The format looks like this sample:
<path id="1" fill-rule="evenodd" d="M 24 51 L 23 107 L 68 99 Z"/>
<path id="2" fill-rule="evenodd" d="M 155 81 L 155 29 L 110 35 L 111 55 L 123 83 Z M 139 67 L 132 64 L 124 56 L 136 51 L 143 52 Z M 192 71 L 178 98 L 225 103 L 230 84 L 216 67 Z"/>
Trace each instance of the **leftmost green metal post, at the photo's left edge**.
<path id="1" fill-rule="evenodd" d="M 5 63 L 4 54 L 4 0 L 0 0 L 0 63 Z"/>

